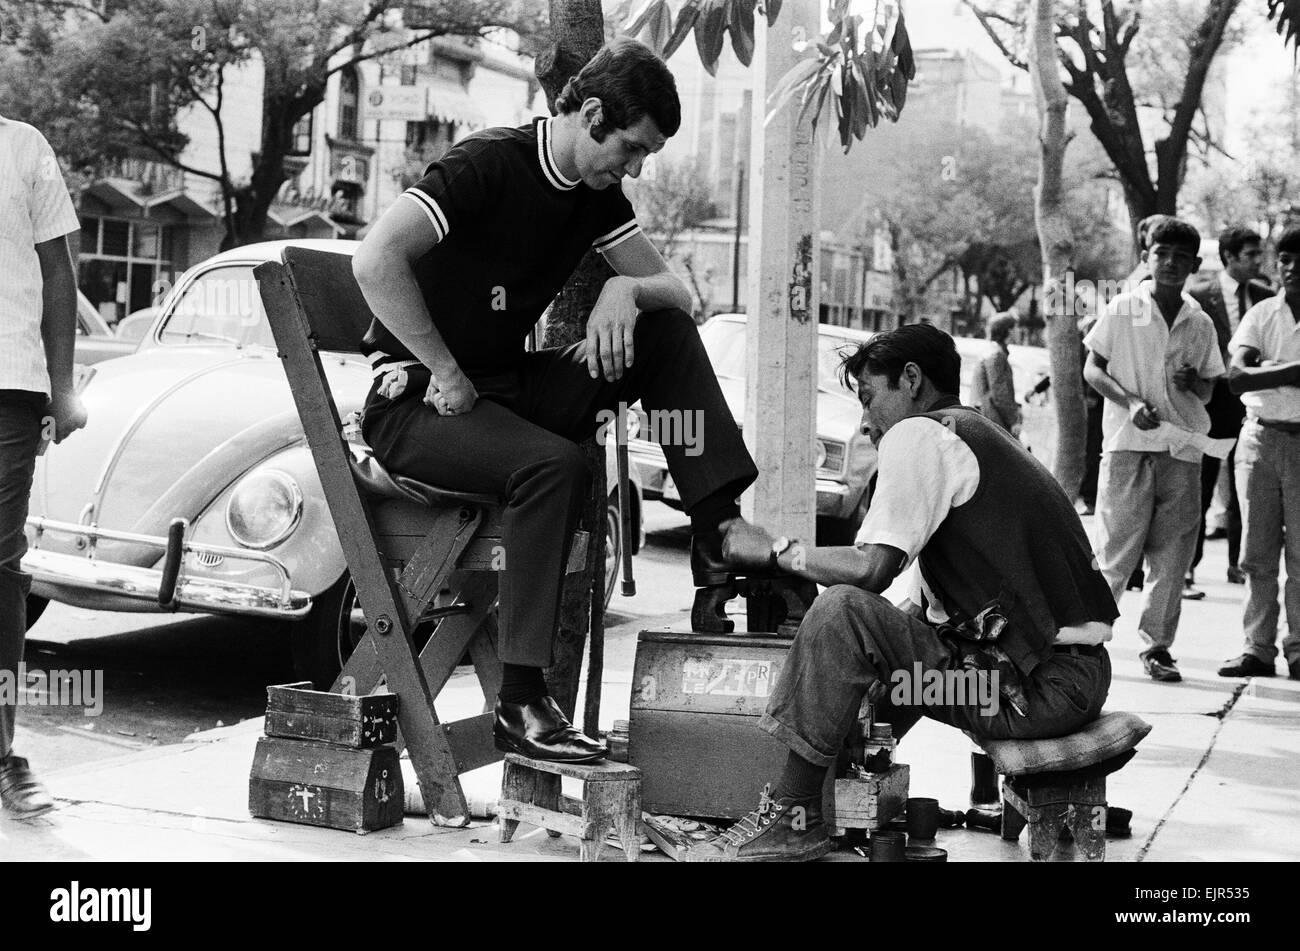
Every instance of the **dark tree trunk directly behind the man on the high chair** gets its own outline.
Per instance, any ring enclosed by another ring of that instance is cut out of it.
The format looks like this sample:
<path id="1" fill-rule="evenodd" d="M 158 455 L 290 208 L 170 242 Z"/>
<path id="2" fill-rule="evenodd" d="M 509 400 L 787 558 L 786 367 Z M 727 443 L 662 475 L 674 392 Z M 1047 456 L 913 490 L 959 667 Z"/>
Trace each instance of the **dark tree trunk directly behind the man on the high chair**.
<path id="1" fill-rule="evenodd" d="M 604 14 L 601 0 L 550 0 L 551 43 L 537 57 L 537 79 L 546 101 L 555 112 L 555 97 L 604 43 Z M 595 307 L 604 282 L 614 272 L 604 259 L 588 252 L 551 305 L 546 322 L 546 347 L 563 347 L 586 336 L 586 318 Z M 601 677 L 604 650 L 604 450 L 588 440 L 582 446 L 592 472 L 592 496 L 582 512 L 582 529 L 590 533 L 586 565 L 580 576 L 568 578 L 560 600 L 555 664 L 546 672 L 551 695 L 560 708 L 575 717 L 577 687 L 582 674 L 582 648 L 592 635 L 592 663 L 588 669 L 582 729 L 595 735 L 601 715 Z"/>

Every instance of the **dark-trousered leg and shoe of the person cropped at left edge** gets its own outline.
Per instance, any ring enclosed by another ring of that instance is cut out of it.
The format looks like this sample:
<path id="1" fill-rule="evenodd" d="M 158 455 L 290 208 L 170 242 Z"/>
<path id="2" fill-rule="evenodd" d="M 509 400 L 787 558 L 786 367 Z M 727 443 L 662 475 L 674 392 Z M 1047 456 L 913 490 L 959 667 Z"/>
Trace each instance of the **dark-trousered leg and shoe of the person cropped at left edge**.
<path id="1" fill-rule="evenodd" d="M 0 672 L 14 678 L 22 663 L 31 578 L 22 572 L 27 548 L 23 522 L 44 396 L 0 391 Z M 53 799 L 13 750 L 16 708 L 0 705 L 0 800 L 10 815 L 30 818 L 53 808 Z"/>

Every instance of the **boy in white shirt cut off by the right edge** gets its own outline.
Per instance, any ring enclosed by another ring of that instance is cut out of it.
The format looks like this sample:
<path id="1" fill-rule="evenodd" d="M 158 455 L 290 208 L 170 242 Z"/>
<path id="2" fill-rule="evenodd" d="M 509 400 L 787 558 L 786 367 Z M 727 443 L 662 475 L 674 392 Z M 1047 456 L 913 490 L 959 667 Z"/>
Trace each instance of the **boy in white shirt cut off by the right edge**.
<path id="1" fill-rule="evenodd" d="M 1236 451 L 1245 605 L 1242 656 L 1221 677 L 1271 677 L 1278 647 L 1278 559 L 1286 552 L 1282 652 L 1300 679 L 1300 227 L 1278 239 L 1282 291 L 1256 304 L 1232 335 L 1228 383 L 1245 404 Z"/>

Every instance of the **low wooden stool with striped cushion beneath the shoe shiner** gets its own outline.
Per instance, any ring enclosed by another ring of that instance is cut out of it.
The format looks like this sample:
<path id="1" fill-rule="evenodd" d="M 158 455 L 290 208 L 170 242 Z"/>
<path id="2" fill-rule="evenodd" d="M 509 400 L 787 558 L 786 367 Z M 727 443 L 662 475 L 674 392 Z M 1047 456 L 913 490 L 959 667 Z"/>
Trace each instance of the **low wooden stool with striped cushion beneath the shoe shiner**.
<path id="1" fill-rule="evenodd" d="M 1002 838 L 1030 826 L 1030 859 L 1048 861 L 1067 828 L 1086 861 L 1106 857 L 1106 776 L 1134 757 L 1150 724 L 1102 713 L 1078 733 L 1053 739 L 980 739 L 967 731 L 1002 780 Z"/>

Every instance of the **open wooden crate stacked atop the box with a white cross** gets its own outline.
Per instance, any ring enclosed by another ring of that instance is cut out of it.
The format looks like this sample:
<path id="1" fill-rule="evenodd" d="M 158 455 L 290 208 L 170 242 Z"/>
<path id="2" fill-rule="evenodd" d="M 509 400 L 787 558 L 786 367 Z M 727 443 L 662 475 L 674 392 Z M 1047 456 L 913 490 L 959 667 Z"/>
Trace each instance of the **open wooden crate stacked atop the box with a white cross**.
<path id="1" fill-rule="evenodd" d="M 350 696 L 311 683 L 266 687 L 266 735 L 369 750 L 398 738 L 395 694 Z"/>

